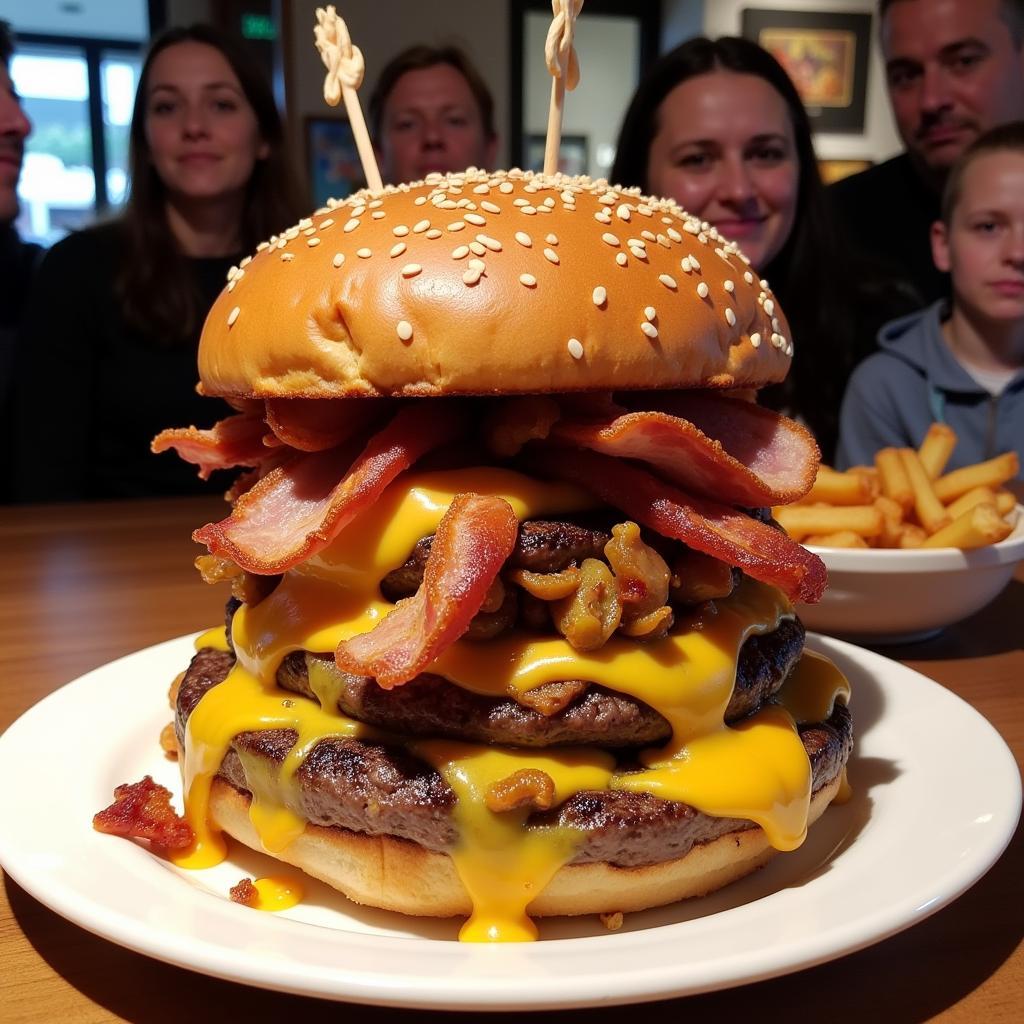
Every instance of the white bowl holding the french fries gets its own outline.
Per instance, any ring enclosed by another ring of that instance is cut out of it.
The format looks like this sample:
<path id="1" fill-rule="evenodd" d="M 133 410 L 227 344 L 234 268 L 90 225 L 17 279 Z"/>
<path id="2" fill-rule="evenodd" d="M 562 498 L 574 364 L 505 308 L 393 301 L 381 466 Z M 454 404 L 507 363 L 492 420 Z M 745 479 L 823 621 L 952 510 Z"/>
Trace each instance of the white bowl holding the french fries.
<path id="1" fill-rule="evenodd" d="M 933 636 L 991 601 L 1024 559 L 1024 508 L 1014 531 L 987 548 L 817 548 L 828 586 L 817 604 L 800 604 L 804 625 L 871 643 Z"/>

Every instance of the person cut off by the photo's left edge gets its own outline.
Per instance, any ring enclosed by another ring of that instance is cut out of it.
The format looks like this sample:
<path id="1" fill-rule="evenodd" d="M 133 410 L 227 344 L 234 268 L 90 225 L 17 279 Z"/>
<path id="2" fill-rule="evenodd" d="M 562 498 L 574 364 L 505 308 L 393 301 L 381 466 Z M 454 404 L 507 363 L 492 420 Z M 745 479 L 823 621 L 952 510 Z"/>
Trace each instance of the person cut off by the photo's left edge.
<path id="1" fill-rule="evenodd" d="M 24 242 L 14 227 L 18 211 L 17 179 L 32 124 L 10 80 L 13 51 L 10 27 L 0 22 L 0 423 L 6 423 L 14 340 L 25 297 L 43 254 L 39 246 Z M 0 473 L 0 478 L 6 480 L 7 474 Z"/>

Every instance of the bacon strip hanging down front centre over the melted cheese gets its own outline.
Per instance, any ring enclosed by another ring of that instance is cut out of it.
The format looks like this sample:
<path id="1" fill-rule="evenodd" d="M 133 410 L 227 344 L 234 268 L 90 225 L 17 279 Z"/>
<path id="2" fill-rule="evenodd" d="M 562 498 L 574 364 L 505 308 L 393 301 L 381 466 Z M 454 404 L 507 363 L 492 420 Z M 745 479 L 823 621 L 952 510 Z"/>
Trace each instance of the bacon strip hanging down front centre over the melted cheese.
<path id="1" fill-rule="evenodd" d="M 469 628 L 518 529 L 504 499 L 457 495 L 437 526 L 420 589 L 369 633 L 339 644 L 339 668 L 372 676 L 386 690 L 418 676 Z"/>

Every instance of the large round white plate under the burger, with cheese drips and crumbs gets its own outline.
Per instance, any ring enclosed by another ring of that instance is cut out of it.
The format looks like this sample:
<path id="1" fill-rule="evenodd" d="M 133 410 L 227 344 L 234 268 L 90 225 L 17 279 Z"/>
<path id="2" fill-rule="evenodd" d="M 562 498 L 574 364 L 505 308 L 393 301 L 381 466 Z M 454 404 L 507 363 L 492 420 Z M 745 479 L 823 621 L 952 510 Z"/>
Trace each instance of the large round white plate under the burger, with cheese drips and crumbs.
<path id="1" fill-rule="evenodd" d="M 83 676 L 0 737 L 0 863 L 57 913 L 131 949 L 349 1001 L 556 1009 L 770 978 L 934 913 L 996 860 L 1020 814 L 1014 758 L 971 707 L 878 654 L 819 637 L 811 646 L 853 684 L 854 799 L 756 876 L 701 900 L 628 915 L 618 932 L 594 919 L 558 920 L 542 922 L 540 942 L 467 945 L 456 941 L 457 923 L 364 910 L 315 883 L 300 906 L 260 913 L 227 899 L 244 876 L 275 871 L 260 854 L 234 848 L 215 868 L 180 871 L 93 831 L 93 812 L 120 782 L 148 772 L 180 791 L 157 734 L 170 718 L 167 686 L 188 660 L 189 638 Z"/>

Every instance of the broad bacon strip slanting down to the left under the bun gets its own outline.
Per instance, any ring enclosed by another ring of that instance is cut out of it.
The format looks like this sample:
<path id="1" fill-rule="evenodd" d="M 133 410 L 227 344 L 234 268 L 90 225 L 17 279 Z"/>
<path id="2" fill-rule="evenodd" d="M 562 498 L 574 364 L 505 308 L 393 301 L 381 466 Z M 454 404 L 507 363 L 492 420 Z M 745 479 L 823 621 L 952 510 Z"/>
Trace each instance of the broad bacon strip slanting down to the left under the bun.
<path id="1" fill-rule="evenodd" d="M 345 444 L 296 456 L 242 495 L 226 519 L 197 529 L 193 540 L 250 572 L 284 572 L 327 547 L 399 473 L 456 438 L 464 423 L 453 403 L 414 401 L 354 462 Z"/>

